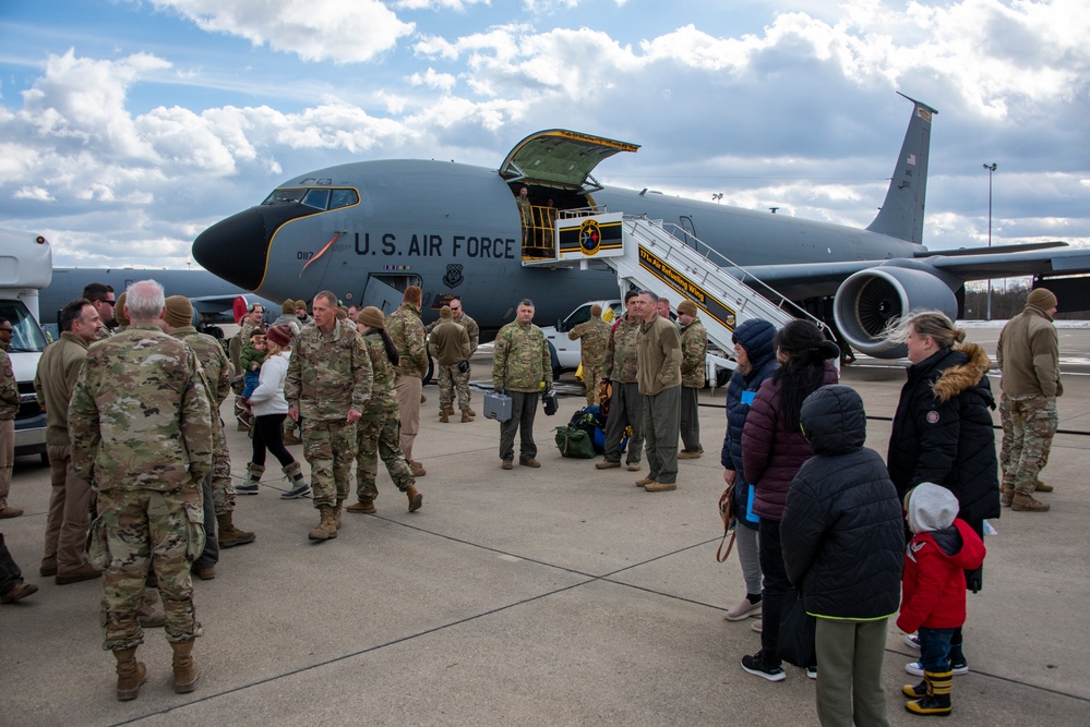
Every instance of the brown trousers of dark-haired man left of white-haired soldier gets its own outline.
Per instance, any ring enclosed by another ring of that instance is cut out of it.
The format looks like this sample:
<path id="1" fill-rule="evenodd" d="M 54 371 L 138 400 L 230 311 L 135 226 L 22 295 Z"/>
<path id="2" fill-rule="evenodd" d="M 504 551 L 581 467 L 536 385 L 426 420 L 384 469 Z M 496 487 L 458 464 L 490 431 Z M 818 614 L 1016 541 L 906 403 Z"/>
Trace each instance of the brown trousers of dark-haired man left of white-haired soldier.
<path id="1" fill-rule="evenodd" d="M 91 501 L 94 490 L 72 469 L 72 452 L 67 446 L 49 445 L 49 514 L 46 518 L 46 550 L 43 565 L 55 565 L 60 572 L 75 570 L 87 562 L 87 531 L 91 530 Z"/>

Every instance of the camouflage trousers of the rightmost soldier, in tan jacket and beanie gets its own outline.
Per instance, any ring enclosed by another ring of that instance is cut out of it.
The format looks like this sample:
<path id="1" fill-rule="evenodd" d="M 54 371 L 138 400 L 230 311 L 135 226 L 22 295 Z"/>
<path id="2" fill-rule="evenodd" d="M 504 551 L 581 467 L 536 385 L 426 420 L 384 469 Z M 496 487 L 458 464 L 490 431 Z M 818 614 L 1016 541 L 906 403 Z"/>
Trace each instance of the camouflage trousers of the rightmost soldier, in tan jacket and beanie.
<path id="1" fill-rule="evenodd" d="M 1049 463 L 1052 438 L 1059 426 L 1056 400 L 1044 397 L 999 398 L 1003 444 L 999 467 L 1003 486 L 1031 495 L 1041 470 Z"/>

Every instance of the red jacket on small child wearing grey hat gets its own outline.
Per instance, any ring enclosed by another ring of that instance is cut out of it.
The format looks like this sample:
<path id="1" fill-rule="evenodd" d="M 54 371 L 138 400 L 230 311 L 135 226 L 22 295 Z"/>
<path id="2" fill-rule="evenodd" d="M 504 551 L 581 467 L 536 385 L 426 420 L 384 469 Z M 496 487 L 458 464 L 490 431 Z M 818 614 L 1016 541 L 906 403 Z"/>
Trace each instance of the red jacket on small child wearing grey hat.
<path id="1" fill-rule="evenodd" d="M 963 626 L 965 571 L 980 568 L 984 553 L 980 535 L 960 518 L 954 521 L 954 528 L 914 535 L 905 552 L 897 628 L 912 633 L 921 626 L 929 629 Z"/>

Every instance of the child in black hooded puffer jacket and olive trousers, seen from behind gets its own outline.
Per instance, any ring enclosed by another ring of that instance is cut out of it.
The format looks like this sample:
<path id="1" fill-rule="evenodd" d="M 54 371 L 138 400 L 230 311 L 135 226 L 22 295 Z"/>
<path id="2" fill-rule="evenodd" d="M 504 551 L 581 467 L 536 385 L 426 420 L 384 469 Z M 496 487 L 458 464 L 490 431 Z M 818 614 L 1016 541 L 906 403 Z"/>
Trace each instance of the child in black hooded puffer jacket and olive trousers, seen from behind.
<path id="1" fill-rule="evenodd" d="M 817 619 L 817 717 L 888 725 L 882 659 L 900 599 L 901 505 L 866 439 L 863 400 L 825 386 L 802 404 L 814 448 L 791 483 L 780 537 L 791 583 Z"/>

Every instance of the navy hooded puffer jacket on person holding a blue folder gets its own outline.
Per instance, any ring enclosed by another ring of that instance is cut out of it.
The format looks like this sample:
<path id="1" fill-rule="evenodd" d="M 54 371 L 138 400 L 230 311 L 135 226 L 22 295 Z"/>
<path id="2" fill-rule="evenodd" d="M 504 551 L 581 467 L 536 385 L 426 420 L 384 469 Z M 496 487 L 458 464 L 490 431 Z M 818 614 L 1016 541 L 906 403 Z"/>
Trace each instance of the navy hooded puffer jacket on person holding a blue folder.
<path id="1" fill-rule="evenodd" d="M 742 429 L 757 389 L 779 367 L 772 344 L 775 338 L 776 327 L 760 318 L 751 318 L 734 329 L 734 340 L 750 359 L 750 373 L 735 371 L 727 385 L 727 433 L 719 460 L 723 469 L 735 472 L 734 517 L 751 530 L 756 530 L 759 521 L 746 518 L 752 486 L 742 471 Z"/>

